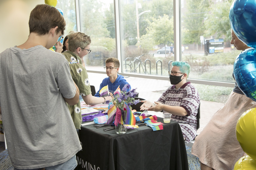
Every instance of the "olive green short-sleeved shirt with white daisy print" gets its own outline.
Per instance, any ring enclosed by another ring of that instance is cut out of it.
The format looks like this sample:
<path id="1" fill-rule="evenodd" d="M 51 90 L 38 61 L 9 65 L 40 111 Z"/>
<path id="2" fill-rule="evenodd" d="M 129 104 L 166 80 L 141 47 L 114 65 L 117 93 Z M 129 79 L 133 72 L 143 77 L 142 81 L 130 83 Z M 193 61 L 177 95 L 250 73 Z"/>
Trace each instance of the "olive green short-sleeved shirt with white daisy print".
<path id="1" fill-rule="evenodd" d="M 91 94 L 92 92 L 87 70 L 82 65 L 81 58 L 72 53 L 71 51 L 65 51 L 62 54 L 64 54 L 66 59 L 68 60 L 71 76 L 80 91 L 80 95 L 86 96 Z M 80 100 L 74 106 L 68 105 L 68 109 L 70 111 L 76 129 L 80 129 L 82 123 Z"/>

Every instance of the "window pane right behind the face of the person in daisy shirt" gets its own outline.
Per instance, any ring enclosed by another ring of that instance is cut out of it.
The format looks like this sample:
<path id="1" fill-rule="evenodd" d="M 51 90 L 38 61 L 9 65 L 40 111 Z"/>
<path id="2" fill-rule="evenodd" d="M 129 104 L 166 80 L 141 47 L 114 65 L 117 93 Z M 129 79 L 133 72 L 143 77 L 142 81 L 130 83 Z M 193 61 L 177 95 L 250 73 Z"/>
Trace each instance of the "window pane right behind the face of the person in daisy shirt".
<path id="1" fill-rule="evenodd" d="M 84 57 L 87 70 L 104 71 L 105 60 L 116 57 L 114 0 L 80 0 L 81 32 L 91 39 L 92 52 Z"/>

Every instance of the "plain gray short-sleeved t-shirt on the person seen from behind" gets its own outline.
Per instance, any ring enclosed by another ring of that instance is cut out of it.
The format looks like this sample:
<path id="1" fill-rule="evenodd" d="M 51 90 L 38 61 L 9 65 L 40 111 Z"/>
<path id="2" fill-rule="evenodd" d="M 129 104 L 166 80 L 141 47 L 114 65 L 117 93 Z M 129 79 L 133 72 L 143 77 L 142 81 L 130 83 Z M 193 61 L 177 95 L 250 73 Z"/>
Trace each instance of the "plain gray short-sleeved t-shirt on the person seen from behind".
<path id="1" fill-rule="evenodd" d="M 64 55 L 43 46 L 0 54 L 0 106 L 8 153 L 18 169 L 54 166 L 81 145 L 63 97 L 76 87 Z"/>

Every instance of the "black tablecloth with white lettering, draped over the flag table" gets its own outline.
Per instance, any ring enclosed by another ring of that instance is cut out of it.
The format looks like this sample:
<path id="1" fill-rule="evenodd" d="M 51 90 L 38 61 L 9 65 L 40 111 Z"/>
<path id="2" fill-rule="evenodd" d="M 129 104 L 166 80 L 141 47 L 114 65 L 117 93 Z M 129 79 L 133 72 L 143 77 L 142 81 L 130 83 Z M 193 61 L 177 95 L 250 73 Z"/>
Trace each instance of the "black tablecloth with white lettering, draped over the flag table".
<path id="1" fill-rule="evenodd" d="M 158 117 L 158 122 L 163 118 Z M 76 169 L 93 170 L 188 170 L 184 139 L 177 122 L 164 123 L 163 130 L 149 126 L 117 135 L 115 129 L 103 131 L 93 125 L 82 126 L 82 151 L 76 156 Z"/>

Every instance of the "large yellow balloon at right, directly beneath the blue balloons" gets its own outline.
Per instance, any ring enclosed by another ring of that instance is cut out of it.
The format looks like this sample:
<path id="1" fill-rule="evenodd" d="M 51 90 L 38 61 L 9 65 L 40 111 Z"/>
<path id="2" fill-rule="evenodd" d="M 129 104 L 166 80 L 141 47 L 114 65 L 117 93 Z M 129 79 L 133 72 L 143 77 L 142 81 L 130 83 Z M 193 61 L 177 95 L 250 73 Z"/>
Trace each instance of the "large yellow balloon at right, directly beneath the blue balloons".
<path id="1" fill-rule="evenodd" d="M 256 108 L 240 116 L 236 123 L 236 138 L 244 152 L 256 160 Z"/>

